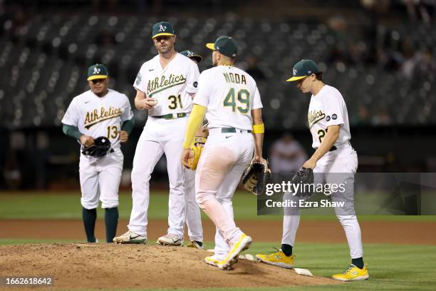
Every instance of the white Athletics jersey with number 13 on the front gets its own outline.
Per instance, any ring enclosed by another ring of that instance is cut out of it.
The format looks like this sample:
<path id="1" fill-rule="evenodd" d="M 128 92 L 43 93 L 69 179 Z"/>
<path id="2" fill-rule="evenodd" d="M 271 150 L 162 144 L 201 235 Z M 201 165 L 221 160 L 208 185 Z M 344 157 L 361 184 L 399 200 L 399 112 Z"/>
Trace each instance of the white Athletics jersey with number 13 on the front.
<path id="1" fill-rule="evenodd" d="M 77 126 L 81 133 L 92 138 L 105 136 L 116 149 L 120 148 L 120 143 L 115 141 L 119 140 L 118 131 L 121 130 L 123 121 L 132 118 L 133 111 L 128 97 L 108 89 L 103 97 L 86 91 L 73 98 L 62 123 Z"/>

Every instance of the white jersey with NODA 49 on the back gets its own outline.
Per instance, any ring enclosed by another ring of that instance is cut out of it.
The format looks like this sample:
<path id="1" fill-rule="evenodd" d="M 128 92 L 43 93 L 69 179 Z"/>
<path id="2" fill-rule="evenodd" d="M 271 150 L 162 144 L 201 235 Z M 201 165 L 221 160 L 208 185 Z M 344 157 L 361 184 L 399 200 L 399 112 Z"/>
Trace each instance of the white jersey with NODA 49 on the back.
<path id="1" fill-rule="evenodd" d="M 207 107 L 209 128 L 234 127 L 246 131 L 253 127 L 251 110 L 263 107 L 254 78 L 234 66 L 203 71 L 192 102 Z"/>

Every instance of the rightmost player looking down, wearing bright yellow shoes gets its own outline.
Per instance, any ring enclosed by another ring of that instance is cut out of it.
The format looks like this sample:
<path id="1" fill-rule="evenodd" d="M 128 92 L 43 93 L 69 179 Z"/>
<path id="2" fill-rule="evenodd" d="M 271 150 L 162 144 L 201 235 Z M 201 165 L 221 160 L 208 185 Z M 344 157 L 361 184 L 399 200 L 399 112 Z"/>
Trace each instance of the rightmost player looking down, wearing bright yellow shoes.
<path id="1" fill-rule="evenodd" d="M 317 183 L 346 185 L 345 191 L 331 194 L 333 201 L 343 200 L 349 209 L 335 208 L 336 216 L 345 230 L 351 252 L 351 265 L 343 274 L 333 275 L 333 279 L 365 280 L 368 270 L 363 263 L 363 247 L 360 226 L 355 216 L 354 175 L 358 167 L 358 157 L 351 147 L 350 125 L 346 103 L 338 89 L 323 83 L 322 72 L 311 60 L 301 60 L 294 66 L 294 76 L 286 81 L 296 81 L 296 87 L 303 93 L 312 93 L 308 108 L 308 125 L 312 134 L 312 147 L 315 153 L 303 168 L 311 168 L 316 173 Z M 286 195 L 286 194 L 285 194 Z M 299 227 L 300 213 L 284 215 L 281 250 L 271 255 L 256 255 L 261 262 L 279 267 L 291 268 L 294 264 L 292 247 L 296 230 Z"/>

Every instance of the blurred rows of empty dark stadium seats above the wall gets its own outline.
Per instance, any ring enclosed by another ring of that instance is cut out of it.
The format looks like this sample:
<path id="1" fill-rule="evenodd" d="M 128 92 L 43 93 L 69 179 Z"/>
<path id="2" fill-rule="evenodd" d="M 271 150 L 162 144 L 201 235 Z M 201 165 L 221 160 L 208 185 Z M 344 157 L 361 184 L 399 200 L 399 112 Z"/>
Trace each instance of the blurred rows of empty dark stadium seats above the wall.
<path id="1" fill-rule="evenodd" d="M 133 98 L 132 83 L 140 65 L 156 54 L 150 30 L 159 20 L 91 13 L 38 14 L 16 24 L 4 17 L 0 23 L 0 124 L 9 130 L 59 126 L 71 98 L 87 90 L 86 68 L 96 62 L 108 65 L 113 88 Z M 204 44 L 222 34 L 237 39 L 240 66 L 246 66 L 246 56 L 257 58 L 265 76 L 258 85 L 269 128 L 306 126 L 309 98 L 301 96 L 294 84 L 284 82 L 301 58 L 320 63 L 326 83 L 338 87 L 346 98 L 354 125 L 436 123 L 434 25 L 379 27 L 378 39 L 386 45 L 380 59 L 368 63 L 331 59 L 337 34 L 320 21 L 271 21 L 232 14 L 223 19 L 167 20 L 177 30 L 177 50 L 190 48 L 205 57 L 200 70 L 211 63 Z M 400 51 L 406 39 L 414 49 L 410 56 Z M 412 68 L 403 69 L 408 60 L 413 60 Z M 137 114 L 137 118 L 145 115 Z"/>

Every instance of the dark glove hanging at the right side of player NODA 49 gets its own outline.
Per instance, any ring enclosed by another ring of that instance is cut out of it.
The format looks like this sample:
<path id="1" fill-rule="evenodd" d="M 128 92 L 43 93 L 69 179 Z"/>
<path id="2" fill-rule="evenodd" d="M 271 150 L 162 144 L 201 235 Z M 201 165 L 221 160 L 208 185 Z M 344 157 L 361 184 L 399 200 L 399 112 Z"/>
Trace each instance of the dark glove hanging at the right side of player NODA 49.
<path id="1" fill-rule="evenodd" d="M 264 192 L 266 181 L 271 178 L 271 170 L 268 163 L 259 163 L 251 160 L 249 167 L 242 175 L 241 184 L 242 188 L 259 195 Z"/>

